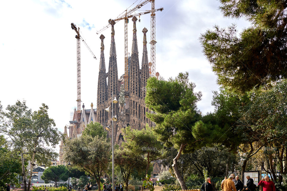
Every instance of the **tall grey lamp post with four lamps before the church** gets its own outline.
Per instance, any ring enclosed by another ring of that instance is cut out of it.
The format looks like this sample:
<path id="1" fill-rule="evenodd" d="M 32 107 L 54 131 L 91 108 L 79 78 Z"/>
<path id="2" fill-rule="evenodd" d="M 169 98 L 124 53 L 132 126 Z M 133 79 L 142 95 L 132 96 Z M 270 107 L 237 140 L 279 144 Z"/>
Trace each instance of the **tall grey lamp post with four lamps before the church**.
<path id="1" fill-rule="evenodd" d="M 117 103 L 117 98 L 113 98 L 113 92 L 112 92 L 112 191 L 115 191 L 115 163 L 114 163 L 114 121 L 117 121 L 117 115 L 114 116 L 114 104 Z M 110 106 L 105 109 L 107 112 L 110 112 Z M 110 125 L 108 127 L 105 127 L 107 131 L 110 130 Z"/>

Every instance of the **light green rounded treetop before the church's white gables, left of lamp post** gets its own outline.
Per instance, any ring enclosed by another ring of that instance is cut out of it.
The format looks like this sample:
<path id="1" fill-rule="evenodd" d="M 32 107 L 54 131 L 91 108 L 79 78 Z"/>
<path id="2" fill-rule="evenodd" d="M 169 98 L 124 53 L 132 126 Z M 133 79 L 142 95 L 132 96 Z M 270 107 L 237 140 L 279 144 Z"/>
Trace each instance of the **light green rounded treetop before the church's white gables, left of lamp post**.
<path id="1" fill-rule="evenodd" d="M 107 132 L 99 122 L 91 121 L 87 124 L 87 127 L 83 130 L 83 136 L 90 135 L 91 137 L 107 137 Z"/>

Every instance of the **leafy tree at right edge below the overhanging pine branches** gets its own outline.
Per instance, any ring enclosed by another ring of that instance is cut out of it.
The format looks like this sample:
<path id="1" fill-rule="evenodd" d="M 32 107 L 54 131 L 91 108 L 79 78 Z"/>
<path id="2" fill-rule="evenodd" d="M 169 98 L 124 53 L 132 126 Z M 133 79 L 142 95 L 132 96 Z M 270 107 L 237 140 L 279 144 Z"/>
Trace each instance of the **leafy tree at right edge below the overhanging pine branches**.
<path id="1" fill-rule="evenodd" d="M 279 178 L 273 169 L 269 170 L 274 181 L 282 182 L 283 153 L 287 148 L 287 80 L 278 81 L 277 84 L 267 91 L 253 91 L 249 94 L 250 101 L 242 108 L 241 118 L 237 124 L 237 131 L 250 141 L 258 141 L 267 148 L 264 150 L 268 155 L 267 162 L 272 166 L 278 165 Z"/>

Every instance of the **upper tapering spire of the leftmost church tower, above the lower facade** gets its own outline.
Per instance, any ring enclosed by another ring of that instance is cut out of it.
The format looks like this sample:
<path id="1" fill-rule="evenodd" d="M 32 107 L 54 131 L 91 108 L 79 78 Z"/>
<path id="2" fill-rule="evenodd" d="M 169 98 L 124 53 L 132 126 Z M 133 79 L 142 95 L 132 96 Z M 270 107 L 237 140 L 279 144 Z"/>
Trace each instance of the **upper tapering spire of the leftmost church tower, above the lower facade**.
<path id="1" fill-rule="evenodd" d="M 105 36 L 101 35 L 101 58 L 100 58 L 100 68 L 98 76 L 98 90 L 97 90 L 97 108 L 100 108 L 101 104 L 108 99 L 108 87 L 107 87 L 107 78 L 106 78 L 106 64 L 104 56 L 104 38 Z"/>

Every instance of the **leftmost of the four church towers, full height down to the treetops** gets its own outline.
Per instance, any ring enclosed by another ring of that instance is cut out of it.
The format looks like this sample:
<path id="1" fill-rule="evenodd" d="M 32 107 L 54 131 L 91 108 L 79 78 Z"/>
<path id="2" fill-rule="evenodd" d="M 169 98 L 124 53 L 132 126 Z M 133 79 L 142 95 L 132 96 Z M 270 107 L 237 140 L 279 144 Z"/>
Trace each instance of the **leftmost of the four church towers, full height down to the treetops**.
<path id="1" fill-rule="evenodd" d="M 98 90 L 97 90 L 97 121 L 99 123 L 104 123 L 106 121 L 107 113 L 104 109 L 106 108 L 106 101 L 108 99 L 108 87 L 107 87 L 107 76 L 106 76 L 106 64 L 104 56 L 104 38 L 101 35 L 101 57 L 100 57 L 100 68 L 98 77 Z"/>

